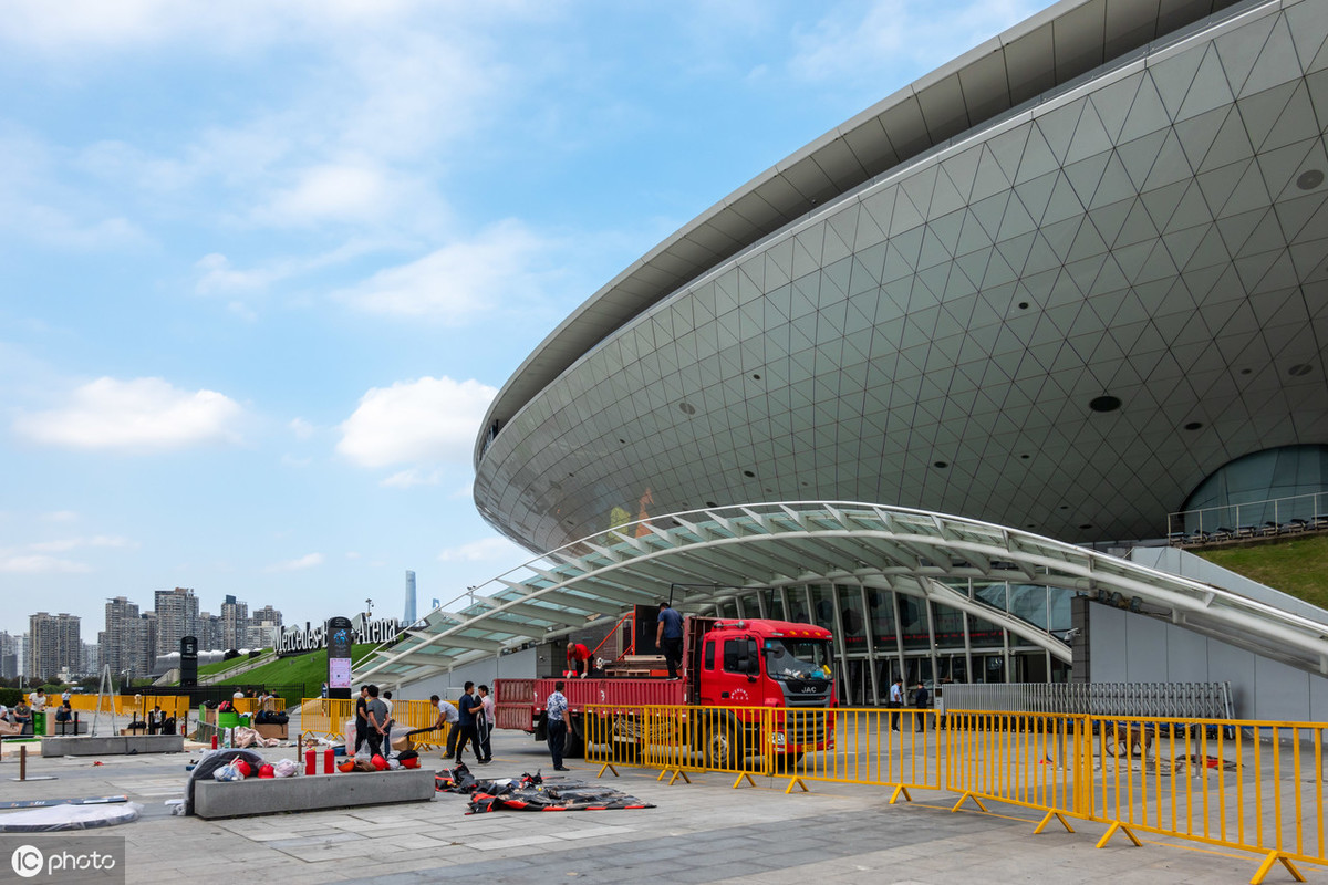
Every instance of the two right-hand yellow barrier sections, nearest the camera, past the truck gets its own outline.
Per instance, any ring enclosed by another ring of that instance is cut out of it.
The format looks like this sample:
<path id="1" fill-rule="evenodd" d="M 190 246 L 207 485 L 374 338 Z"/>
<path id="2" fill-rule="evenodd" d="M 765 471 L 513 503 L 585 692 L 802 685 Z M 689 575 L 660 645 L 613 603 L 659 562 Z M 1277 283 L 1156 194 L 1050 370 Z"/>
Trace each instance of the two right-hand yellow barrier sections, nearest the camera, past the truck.
<path id="1" fill-rule="evenodd" d="M 1321 723 L 948 714 L 947 785 L 972 797 L 1263 854 L 1251 880 L 1282 862 L 1328 864 Z M 956 808 L 960 803 L 956 803 Z"/>

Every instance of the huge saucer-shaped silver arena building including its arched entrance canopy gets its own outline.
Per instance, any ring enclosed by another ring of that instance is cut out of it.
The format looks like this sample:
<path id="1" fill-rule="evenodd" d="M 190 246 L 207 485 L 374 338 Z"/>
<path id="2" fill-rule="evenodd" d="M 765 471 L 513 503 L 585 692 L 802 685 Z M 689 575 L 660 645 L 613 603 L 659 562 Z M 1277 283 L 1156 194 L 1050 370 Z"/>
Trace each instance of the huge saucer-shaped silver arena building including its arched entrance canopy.
<path id="1" fill-rule="evenodd" d="M 1064 0 L 724 198 L 489 410 L 475 503 L 554 552 L 376 669 L 672 593 L 831 626 L 850 702 L 1226 659 L 1328 705 L 1328 616 L 1150 548 L 1328 527 L 1325 38 Z"/>

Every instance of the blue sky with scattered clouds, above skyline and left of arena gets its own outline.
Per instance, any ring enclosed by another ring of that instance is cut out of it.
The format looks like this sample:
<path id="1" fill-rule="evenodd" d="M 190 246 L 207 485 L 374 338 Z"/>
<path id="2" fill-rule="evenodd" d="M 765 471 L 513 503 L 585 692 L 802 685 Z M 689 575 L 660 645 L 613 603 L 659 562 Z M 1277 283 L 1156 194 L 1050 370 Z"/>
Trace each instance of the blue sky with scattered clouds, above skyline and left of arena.
<path id="1" fill-rule="evenodd" d="M 530 350 L 762 170 L 1040 4 L 16 0 L 0 630 L 191 586 L 400 614 Z"/>

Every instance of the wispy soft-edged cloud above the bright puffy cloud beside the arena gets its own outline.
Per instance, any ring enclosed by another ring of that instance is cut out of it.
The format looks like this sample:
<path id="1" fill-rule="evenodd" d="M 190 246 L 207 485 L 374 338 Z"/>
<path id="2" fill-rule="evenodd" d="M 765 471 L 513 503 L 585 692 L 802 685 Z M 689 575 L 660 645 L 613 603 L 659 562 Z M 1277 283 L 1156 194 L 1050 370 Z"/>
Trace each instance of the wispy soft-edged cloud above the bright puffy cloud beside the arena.
<path id="1" fill-rule="evenodd" d="M 335 297 L 371 313 L 459 325 L 499 305 L 539 300 L 554 280 L 547 268 L 554 251 L 555 243 L 509 219 Z"/>

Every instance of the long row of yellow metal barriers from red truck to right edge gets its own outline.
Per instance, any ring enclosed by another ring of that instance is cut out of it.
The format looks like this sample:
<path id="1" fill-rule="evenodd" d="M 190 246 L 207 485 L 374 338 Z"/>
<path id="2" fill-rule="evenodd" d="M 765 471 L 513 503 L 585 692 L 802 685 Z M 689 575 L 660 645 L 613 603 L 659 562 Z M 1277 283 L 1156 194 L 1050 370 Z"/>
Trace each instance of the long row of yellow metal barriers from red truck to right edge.
<path id="1" fill-rule="evenodd" d="M 948 707 L 740 710 L 590 705 L 586 758 L 600 775 L 659 768 L 957 793 L 957 811 L 1000 801 L 1106 824 L 1142 845 L 1158 833 L 1263 856 L 1252 885 L 1276 864 L 1328 865 L 1324 744 L 1328 723 L 1230 718 L 1020 713 Z M 1303 880 L 1301 880 L 1303 881 Z"/>

